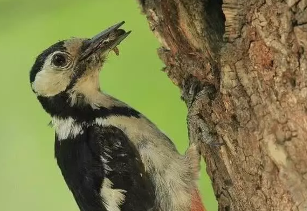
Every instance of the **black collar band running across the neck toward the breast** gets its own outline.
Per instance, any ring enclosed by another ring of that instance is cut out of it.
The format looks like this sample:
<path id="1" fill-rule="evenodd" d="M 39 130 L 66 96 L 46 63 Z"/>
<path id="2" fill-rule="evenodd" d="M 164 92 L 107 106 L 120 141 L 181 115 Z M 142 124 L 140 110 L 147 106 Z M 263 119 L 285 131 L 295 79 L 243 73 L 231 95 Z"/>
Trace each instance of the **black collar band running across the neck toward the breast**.
<path id="1" fill-rule="evenodd" d="M 93 109 L 88 104 L 70 106 L 70 98 L 65 92 L 53 97 L 38 96 L 37 98 L 46 112 L 50 113 L 51 116 L 72 117 L 77 122 L 93 121 L 97 117 L 104 118 L 114 115 L 140 117 L 140 113 L 130 107 L 113 106 L 111 108 L 100 107 L 99 109 Z"/>

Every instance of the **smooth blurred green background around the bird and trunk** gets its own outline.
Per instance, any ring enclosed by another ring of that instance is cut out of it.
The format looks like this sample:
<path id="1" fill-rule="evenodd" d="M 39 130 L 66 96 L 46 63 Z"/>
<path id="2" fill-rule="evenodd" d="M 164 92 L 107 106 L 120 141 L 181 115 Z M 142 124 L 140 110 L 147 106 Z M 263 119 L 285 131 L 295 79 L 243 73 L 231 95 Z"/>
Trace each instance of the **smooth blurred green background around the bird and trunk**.
<path id="1" fill-rule="evenodd" d="M 160 71 L 159 43 L 136 0 L 0 0 L 0 210 L 79 210 L 56 165 L 54 131 L 28 74 L 35 56 L 52 43 L 91 37 L 122 20 L 132 33 L 119 46 L 120 56 L 109 57 L 102 89 L 144 113 L 184 153 L 187 110 Z M 200 189 L 207 210 L 217 210 L 204 167 Z"/>

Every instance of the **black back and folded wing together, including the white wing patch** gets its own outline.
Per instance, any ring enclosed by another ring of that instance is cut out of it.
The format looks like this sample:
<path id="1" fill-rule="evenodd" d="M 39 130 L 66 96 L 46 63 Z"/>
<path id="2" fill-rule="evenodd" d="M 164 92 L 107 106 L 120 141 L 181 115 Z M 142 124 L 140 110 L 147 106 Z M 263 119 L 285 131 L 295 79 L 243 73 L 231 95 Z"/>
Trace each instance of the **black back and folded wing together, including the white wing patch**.
<path id="1" fill-rule="evenodd" d="M 118 128 L 93 124 L 75 138 L 56 136 L 55 157 L 82 211 L 154 206 L 153 187 L 139 153 Z"/>

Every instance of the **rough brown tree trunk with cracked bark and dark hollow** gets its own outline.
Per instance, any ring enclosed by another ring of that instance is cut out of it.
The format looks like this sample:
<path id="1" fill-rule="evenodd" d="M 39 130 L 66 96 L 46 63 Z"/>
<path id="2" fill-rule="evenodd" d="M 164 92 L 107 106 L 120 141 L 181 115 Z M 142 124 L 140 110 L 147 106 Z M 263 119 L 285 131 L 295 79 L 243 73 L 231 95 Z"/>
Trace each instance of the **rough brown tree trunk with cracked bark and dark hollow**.
<path id="1" fill-rule="evenodd" d="M 307 0 L 139 3 L 172 82 L 217 90 L 199 115 L 225 143 L 202 147 L 219 210 L 307 210 Z"/>

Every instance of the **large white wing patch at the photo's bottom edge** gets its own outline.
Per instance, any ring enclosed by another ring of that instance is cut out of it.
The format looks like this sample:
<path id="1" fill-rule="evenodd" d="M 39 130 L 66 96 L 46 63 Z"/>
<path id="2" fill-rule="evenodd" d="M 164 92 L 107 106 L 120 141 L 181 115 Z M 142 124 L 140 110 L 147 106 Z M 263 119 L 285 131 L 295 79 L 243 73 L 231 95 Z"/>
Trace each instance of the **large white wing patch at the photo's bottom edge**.
<path id="1" fill-rule="evenodd" d="M 103 204 L 108 211 L 120 211 L 119 206 L 125 201 L 126 190 L 112 189 L 113 183 L 108 178 L 105 178 L 101 188 L 101 196 Z"/>

